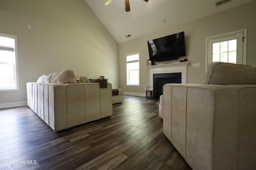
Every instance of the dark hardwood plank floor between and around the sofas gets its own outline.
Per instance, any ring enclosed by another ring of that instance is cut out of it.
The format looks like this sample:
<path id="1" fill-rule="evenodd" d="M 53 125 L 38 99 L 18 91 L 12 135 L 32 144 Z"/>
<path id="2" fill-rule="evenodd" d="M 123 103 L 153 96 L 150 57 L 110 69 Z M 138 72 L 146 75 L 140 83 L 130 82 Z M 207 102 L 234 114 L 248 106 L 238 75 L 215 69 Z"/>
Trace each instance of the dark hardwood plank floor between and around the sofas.
<path id="1" fill-rule="evenodd" d="M 191 170 L 163 134 L 158 104 L 125 96 L 112 117 L 58 133 L 27 106 L 0 109 L 0 169 Z"/>

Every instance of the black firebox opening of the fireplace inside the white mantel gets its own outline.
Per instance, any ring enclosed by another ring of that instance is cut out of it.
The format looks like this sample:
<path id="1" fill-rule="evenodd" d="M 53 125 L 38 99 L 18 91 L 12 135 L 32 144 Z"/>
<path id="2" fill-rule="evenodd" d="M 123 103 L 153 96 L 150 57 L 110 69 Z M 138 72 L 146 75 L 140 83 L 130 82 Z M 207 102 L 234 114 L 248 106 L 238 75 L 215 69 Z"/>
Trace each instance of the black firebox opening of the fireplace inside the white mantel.
<path id="1" fill-rule="evenodd" d="M 167 83 L 181 83 L 181 72 L 153 74 L 153 87 L 156 98 L 163 94 L 163 86 Z"/>

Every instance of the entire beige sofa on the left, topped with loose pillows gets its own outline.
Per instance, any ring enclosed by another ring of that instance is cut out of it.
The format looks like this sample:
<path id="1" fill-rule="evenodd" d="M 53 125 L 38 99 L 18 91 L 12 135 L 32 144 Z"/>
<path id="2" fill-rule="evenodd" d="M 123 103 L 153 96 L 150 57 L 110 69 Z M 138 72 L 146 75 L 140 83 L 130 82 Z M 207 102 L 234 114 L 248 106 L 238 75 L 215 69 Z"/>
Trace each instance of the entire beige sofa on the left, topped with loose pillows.
<path id="1" fill-rule="evenodd" d="M 112 85 L 90 83 L 72 70 L 27 84 L 28 106 L 55 132 L 112 116 Z"/>

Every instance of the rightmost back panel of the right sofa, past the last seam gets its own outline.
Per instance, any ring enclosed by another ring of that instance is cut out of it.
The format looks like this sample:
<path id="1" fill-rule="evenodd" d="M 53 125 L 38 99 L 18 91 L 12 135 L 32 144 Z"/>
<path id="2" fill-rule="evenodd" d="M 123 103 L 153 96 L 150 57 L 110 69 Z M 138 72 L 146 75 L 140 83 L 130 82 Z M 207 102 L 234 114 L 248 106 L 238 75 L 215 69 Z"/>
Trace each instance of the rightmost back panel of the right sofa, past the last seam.
<path id="1" fill-rule="evenodd" d="M 256 167 L 256 85 L 230 85 L 239 94 L 238 169 Z"/>

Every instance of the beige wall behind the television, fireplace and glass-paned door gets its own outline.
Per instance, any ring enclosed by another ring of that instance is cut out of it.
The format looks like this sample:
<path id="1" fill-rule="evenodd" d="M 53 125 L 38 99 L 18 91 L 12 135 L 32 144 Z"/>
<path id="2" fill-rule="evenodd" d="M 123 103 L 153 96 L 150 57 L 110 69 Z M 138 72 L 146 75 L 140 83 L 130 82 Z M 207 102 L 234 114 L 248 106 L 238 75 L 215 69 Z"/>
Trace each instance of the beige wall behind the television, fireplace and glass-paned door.
<path id="1" fill-rule="evenodd" d="M 247 64 L 256 66 L 256 1 L 219 12 L 188 23 L 171 27 L 138 39 L 119 44 L 119 84 L 124 92 L 144 94 L 149 86 L 149 59 L 147 41 L 185 31 L 186 57 L 188 65 L 187 82 L 201 84 L 205 71 L 205 38 L 222 33 L 247 29 Z M 140 52 L 140 87 L 126 86 L 126 54 Z M 200 67 L 192 64 L 200 63 Z"/>

